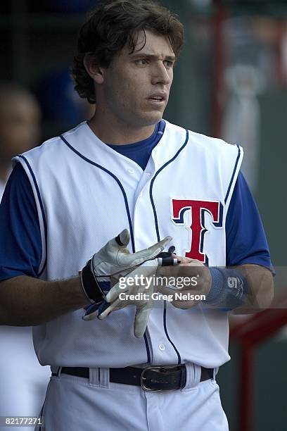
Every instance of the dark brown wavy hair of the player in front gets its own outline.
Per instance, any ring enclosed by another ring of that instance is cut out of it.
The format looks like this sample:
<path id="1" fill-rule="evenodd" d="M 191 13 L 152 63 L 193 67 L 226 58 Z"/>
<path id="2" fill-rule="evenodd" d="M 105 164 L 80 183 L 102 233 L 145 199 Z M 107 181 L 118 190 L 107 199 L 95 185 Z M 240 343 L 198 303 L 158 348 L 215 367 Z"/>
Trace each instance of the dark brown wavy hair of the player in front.
<path id="1" fill-rule="evenodd" d="M 94 82 L 84 68 L 84 56 L 89 55 L 101 65 L 108 67 L 115 54 L 127 44 L 134 52 L 136 36 L 145 30 L 165 35 L 175 56 L 184 43 L 184 26 L 177 15 L 151 0 L 104 0 L 89 13 L 87 21 L 79 30 L 77 53 L 72 63 L 75 89 L 90 104 L 96 103 Z"/>

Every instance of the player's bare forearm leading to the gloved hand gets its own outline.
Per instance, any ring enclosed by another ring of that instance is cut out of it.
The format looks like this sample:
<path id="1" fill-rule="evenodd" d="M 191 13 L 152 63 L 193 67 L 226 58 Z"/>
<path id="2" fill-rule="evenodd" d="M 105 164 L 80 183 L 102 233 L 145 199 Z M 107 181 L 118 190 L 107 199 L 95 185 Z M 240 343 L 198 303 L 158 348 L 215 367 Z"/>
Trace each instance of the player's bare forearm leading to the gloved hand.
<path id="1" fill-rule="evenodd" d="M 0 325 L 40 325 L 87 304 L 79 277 L 46 282 L 23 275 L 0 282 Z"/>

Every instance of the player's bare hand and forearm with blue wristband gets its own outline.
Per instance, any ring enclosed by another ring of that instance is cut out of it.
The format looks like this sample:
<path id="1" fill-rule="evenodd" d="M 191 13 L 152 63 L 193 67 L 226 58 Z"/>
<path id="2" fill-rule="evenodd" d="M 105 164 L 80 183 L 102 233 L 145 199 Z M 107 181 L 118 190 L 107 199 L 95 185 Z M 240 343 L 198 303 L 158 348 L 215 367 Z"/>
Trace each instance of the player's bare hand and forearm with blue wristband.
<path id="1" fill-rule="evenodd" d="M 205 304 L 236 314 L 255 313 L 272 303 L 274 282 L 272 271 L 268 268 L 251 264 L 230 268 L 208 268 L 195 259 L 178 258 L 181 265 L 158 268 L 158 275 L 174 277 L 177 282 L 179 277 L 196 277 L 197 282 L 192 283 L 191 286 L 185 285 L 181 289 L 176 286 L 177 283 L 175 286 L 159 286 L 158 291 L 162 294 L 175 296 L 176 292 L 182 292 L 183 294 L 205 295 L 207 299 L 206 302 L 204 301 Z M 222 275 L 219 280 L 216 277 L 215 269 Z M 234 277 L 240 281 L 237 287 L 229 282 L 229 279 Z M 210 298 L 210 295 L 213 296 L 213 299 Z M 174 299 L 172 304 L 177 308 L 186 309 L 195 306 L 198 302 Z"/>

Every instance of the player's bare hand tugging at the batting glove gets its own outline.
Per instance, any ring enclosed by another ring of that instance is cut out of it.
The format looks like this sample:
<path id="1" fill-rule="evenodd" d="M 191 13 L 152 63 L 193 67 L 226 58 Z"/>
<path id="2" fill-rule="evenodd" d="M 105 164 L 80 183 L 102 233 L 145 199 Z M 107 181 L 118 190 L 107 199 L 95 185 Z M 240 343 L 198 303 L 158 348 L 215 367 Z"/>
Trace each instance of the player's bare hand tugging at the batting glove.
<path id="1" fill-rule="evenodd" d="M 185 299 L 175 299 L 175 293 L 182 292 L 183 294 L 191 295 L 205 295 L 210 292 L 211 287 L 211 274 L 207 266 L 197 259 L 191 259 L 181 256 L 175 256 L 181 262 L 177 266 L 162 266 L 158 268 L 158 275 L 165 277 L 172 277 L 176 280 L 182 280 L 186 277 L 186 285 L 179 288 L 175 286 L 158 286 L 158 292 L 165 295 L 173 295 L 174 299 L 171 301 L 172 305 L 183 310 L 192 308 L 199 301 L 191 301 Z M 187 279 L 191 279 L 190 283 Z"/>

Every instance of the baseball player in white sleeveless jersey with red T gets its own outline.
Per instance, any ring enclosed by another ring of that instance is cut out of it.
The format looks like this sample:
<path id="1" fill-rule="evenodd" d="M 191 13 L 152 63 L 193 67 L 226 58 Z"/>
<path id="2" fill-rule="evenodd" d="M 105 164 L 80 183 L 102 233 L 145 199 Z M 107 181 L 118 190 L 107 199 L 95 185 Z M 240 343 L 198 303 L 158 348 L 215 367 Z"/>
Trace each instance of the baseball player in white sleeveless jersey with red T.
<path id="1" fill-rule="evenodd" d="M 35 325 L 48 431 L 228 430 L 228 313 L 269 305 L 272 265 L 241 147 L 162 119 L 183 36 L 153 1 L 100 2 L 72 66 L 94 116 L 14 158 L 0 316 Z"/>

